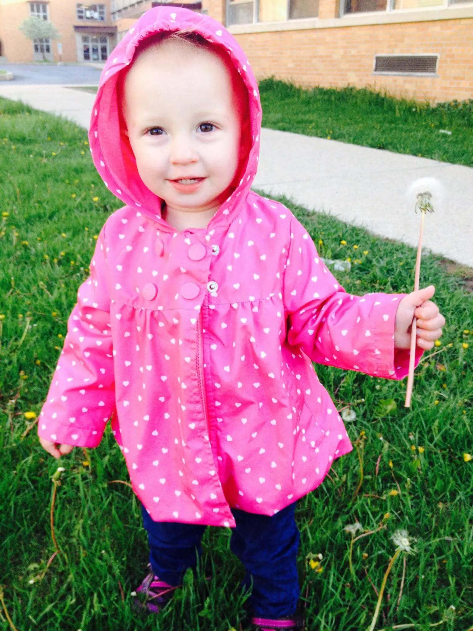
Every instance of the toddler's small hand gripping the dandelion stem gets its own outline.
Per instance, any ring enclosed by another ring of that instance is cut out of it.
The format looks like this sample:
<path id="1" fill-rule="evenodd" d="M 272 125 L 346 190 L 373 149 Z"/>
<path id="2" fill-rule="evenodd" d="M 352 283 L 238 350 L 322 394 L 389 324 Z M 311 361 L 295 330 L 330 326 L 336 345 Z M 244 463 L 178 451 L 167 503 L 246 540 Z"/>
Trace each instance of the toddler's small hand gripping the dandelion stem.
<path id="1" fill-rule="evenodd" d="M 414 317 L 417 318 L 417 345 L 423 350 L 433 348 L 434 341 L 440 338 L 445 325 L 445 318 L 437 305 L 429 300 L 434 293 L 435 287 L 430 285 L 402 298 L 395 318 L 395 348 L 411 348 L 411 325 Z"/>

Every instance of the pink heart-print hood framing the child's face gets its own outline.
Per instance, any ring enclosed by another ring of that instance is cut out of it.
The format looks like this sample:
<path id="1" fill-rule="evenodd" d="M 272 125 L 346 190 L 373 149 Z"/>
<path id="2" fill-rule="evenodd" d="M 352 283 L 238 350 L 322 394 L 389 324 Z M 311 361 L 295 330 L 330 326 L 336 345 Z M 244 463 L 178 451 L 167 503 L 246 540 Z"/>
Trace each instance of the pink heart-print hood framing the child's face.
<path id="1" fill-rule="evenodd" d="M 169 229 L 161 218 L 161 199 L 139 177 L 129 143 L 120 134 L 120 105 L 117 85 L 120 73 L 132 63 L 137 47 L 156 33 L 193 30 L 224 50 L 242 76 L 248 90 L 251 149 L 245 173 L 237 188 L 211 219 L 211 227 L 230 223 L 254 180 L 259 160 L 261 104 L 255 76 L 235 38 L 216 20 L 189 9 L 157 7 L 146 11 L 108 57 L 98 86 L 90 121 L 90 150 L 105 186 L 124 204 L 141 209 L 152 221 Z"/>

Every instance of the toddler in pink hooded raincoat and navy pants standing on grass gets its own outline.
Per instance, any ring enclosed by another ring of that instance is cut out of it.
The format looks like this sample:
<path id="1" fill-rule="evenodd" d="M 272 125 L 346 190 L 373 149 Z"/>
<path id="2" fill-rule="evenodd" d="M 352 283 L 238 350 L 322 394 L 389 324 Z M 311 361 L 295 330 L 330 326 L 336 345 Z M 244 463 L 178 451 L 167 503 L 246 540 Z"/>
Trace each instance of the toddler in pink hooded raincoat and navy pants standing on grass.
<path id="1" fill-rule="evenodd" d="M 445 324 L 429 300 L 349 295 L 282 204 L 250 191 L 261 108 L 237 42 L 186 9 L 144 13 L 102 73 L 90 146 L 125 204 L 105 222 L 38 424 L 59 458 L 111 417 L 143 504 L 159 611 L 206 526 L 232 528 L 252 623 L 300 626 L 295 503 L 351 442 L 313 363 L 401 379 Z"/>

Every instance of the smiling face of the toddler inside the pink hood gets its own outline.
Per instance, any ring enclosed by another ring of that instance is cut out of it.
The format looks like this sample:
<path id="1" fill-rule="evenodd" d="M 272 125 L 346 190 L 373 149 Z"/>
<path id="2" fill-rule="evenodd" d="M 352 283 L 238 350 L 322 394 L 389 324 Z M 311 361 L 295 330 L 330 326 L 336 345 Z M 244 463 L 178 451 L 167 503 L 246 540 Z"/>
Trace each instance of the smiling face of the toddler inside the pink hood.
<path id="1" fill-rule="evenodd" d="M 137 58 L 123 114 L 144 184 L 179 213 L 213 215 L 240 159 L 240 99 L 216 54 L 165 40 Z"/>

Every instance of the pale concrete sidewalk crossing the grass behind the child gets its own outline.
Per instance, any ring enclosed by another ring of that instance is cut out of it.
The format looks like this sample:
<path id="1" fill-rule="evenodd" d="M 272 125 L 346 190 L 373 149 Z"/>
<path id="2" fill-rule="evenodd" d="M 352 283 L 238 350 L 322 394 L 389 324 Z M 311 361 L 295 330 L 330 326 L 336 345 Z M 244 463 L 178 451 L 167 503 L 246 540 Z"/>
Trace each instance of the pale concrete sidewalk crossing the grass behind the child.
<path id="1" fill-rule="evenodd" d="M 0 85 L 0 96 L 88 127 L 93 93 L 71 86 Z M 254 187 L 324 210 L 382 237 L 417 245 L 419 215 L 407 204 L 412 181 L 435 177 L 446 201 L 426 218 L 424 246 L 473 267 L 473 168 L 334 140 L 263 129 Z"/>

